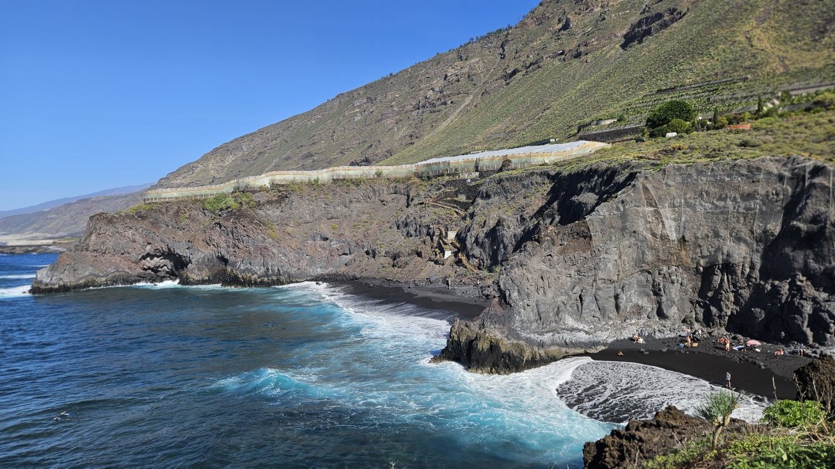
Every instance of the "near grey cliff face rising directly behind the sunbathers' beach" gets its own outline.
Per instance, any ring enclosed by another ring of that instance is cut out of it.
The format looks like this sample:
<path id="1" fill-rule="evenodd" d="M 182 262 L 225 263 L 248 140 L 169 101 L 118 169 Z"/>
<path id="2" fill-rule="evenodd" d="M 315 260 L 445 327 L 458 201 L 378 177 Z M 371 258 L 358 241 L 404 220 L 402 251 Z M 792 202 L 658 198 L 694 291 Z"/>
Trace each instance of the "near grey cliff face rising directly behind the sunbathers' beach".
<path id="1" fill-rule="evenodd" d="M 511 238 L 524 245 L 503 263 L 498 301 L 468 334 L 451 335 L 442 356 L 490 370 L 508 361 L 455 340 L 566 353 L 640 329 L 674 335 L 683 324 L 832 345 L 832 168 L 765 158 L 667 165 L 623 180 L 623 189 L 554 184 L 539 224 Z M 510 226 L 493 236 L 502 243 L 486 245 L 503 252 Z"/>

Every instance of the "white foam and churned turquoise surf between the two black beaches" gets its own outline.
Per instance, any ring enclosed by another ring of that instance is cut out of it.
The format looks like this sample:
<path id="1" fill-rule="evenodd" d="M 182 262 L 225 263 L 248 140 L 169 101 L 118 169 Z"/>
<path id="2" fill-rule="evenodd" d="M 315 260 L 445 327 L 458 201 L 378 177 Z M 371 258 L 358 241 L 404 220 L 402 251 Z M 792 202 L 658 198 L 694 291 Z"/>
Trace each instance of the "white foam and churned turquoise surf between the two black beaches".
<path id="1" fill-rule="evenodd" d="M 347 330 L 358 330 L 345 356 L 334 356 L 333 370 L 305 376 L 318 389 L 337 386 L 352 408 L 385 411 L 410 425 L 453 426 L 476 443 L 488 439 L 485 429 L 514 435 L 517 443 L 548 447 L 569 455 L 583 441 L 595 440 L 612 428 L 569 409 L 556 388 L 589 358 L 558 361 L 509 376 L 478 375 L 456 363 L 429 364 L 446 343 L 449 323 L 433 317 L 439 311 L 410 304 L 349 295 L 339 287 L 305 282 L 282 289 L 319 295 L 342 310 Z M 443 312 L 443 317 L 448 317 Z M 369 356 L 371 359 L 369 360 Z M 329 383 L 340 367 L 351 367 L 352 379 Z M 564 440 L 573 441 L 568 445 Z M 556 447 L 554 441 L 563 441 Z M 554 445 L 549 446 L 549 445 Z M 561 457 L 561 456 L 560 456 Z M 559 459 L 559 458 L 558 458 Z"/>

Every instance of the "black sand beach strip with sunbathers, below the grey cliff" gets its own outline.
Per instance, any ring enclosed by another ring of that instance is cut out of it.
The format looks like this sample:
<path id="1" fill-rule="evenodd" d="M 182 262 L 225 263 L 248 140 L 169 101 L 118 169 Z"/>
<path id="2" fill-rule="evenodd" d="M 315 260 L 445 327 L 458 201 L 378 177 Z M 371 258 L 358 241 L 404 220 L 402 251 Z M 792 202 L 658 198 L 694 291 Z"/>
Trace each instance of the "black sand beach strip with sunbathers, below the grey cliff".
<path id="1" fill-rule="evenodd" d="M 778 345 L 763 344 L 760 352 L 725 351 L 724 345 L 716 344 L 718 336 L 702 340 L 698 347 L 680 348 L 681 339 L 646 339 L 645 344 L 631 340 L 617 340 L 605 350 L 587 354 L 600 361 L 632 361 L 643 365 L 658 366 L 665 370 L 678 371 L 696 376 L 717 386 L 725 386 L 725 372 L 731 372 L 731 386 L 736 389 L 774 398 L 777 387 L 778 399 L 795 399 L 797 387 L 793 373 L 811 359 L 796 355 L 775 356 Z M 641 353 L 644 349 L 647 353 Z M 666 351 L 663 351 L 666 349 Z M 618 356 L 618 351 L 624 353 Z M 773 384 L 772 384 L 773 378 Z"/>

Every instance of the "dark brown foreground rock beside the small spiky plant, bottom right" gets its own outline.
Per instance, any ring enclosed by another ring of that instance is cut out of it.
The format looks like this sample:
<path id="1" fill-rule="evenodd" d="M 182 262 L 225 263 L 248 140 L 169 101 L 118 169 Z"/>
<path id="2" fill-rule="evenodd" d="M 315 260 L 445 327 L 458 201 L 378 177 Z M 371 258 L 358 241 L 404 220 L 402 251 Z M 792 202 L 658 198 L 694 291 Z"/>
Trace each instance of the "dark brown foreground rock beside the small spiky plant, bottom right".
<path id="1" fill-rule="evenodd" d="M 751 425 L 731 419 L 727 433 L 744 431 Z M 669 406 L 649 420 L 630 421 L 623 430 L 613 430 L 609 436 L 590 441 L 583 446 L 586 469 L 615 469 L 632 467 L 670 452 L 671 448 L 685 446 L 711 434 L 713 427 L 705 420 L 688 416 Z"/>

